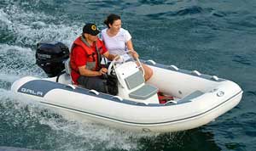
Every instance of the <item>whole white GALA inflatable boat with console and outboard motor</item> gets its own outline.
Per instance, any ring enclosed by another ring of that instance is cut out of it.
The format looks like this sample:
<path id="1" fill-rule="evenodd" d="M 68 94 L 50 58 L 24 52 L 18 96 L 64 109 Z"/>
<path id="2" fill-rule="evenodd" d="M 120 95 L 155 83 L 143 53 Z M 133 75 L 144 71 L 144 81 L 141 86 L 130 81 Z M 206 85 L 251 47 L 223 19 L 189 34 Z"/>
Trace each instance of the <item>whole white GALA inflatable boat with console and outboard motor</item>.
<path id="1" fill-rule="evenodd" d="M 57 66 L 56 59 L 49 54 L 53 52 L 61 58 Z M 158 132 L 206 125 L 234 108 L 242 97 L 241 87 L 233 81 L 153 60 L 125 59 L 122 55 L 108 67 L 108 74 L 117 77 L 118 94 L 89 90 L 73 85 L 68 53 L 60 42 L 39 44 L 37 63 L 49 77 L 23 77 L 13 83 L 11 90 L 68 119 Z M 149 81 L 144 81 L 141 62 L 154 71 Z M 164 102 L 162 97 L 166 98 Z"/>

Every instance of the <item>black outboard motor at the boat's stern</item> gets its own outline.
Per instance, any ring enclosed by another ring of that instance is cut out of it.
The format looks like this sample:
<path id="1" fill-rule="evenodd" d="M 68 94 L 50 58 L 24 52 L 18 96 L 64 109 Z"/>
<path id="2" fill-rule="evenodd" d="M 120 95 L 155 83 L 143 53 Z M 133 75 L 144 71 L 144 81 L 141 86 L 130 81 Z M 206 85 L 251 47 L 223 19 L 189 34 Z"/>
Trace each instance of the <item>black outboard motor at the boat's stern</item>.
<path id="1" fill-rule="evenodd" d="M 69 49 L 61 42 L 38 42 L 36 64 L 48 77 L 61 74 L 65 69 L 64 61 L 69 58 Z"/>

